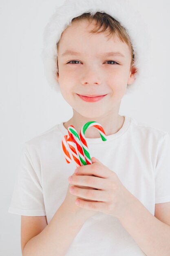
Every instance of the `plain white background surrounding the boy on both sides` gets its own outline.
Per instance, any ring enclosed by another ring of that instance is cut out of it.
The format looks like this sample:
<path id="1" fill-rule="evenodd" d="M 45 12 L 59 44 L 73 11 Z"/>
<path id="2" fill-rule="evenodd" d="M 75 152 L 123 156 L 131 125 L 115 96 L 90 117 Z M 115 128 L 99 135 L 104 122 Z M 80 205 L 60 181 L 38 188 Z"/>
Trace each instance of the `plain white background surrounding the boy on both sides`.
<path id="1" fill-rule="evenodd" d="M 20 215 L 8 213 L 24 141 L 67 121 L 72 109 L 44 77 L 42 34 L 62 0 L 0 1 L 0 255 L 21 256 Z M 119 114 L 170 133 L 170 1 L 130 0 L 148 24 L 150 74 Z"/>

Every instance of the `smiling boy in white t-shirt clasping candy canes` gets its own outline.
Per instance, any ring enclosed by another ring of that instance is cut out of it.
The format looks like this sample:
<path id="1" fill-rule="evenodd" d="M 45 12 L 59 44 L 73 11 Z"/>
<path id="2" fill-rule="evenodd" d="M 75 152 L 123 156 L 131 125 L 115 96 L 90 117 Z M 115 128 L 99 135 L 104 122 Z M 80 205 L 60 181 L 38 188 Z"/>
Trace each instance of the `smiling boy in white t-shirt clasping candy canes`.
<path id="1" fill-rule="evenodd" d="M 75 13 L 81 4 L 84 11 L 86 4 L 104 10 L 100 1 L 66 1 L 68 10 L 69 3 Z M 23 148 L 9 209 L 22 215 L 23 255 L 168 256 L 170 136 L 119 115 L 121 99 L 139 72 L 124 27 L 103 12 L 80 17 L 56 41 L 56 80 L 73 117 Z M 91 33 L 98 29 L 96 19 L 108 28 Z M 104 127 L 107 141 L 89 128 L 86 141 L 97 158 L 73 173 L 74 163 L 64 162 L 62 137 L 69 125 L 79 132 L 88 121 Z"/>

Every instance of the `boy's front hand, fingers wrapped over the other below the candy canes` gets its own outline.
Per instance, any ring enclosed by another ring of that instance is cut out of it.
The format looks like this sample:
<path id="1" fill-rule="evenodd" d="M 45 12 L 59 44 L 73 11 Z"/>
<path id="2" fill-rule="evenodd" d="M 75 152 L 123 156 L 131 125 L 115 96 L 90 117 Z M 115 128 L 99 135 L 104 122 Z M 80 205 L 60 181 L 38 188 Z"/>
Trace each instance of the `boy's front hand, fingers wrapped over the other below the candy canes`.
<path id="1" fill-rule="evenodd" d="M 78 167 L 78 173 L 73 175 L 72 181 L 69 182 L 70 193 L 78 197 L 75 202 L 79 201 L 78 206 L 84 209 L 103 212 L 117 218 L 124 216 L 135 196 L 125 188 L 115 172 L 110 171 L 95 157 L 92 157 L 91 161 L 92 164 Z M 77 186 L 94 189 L 82 189 Z"/>

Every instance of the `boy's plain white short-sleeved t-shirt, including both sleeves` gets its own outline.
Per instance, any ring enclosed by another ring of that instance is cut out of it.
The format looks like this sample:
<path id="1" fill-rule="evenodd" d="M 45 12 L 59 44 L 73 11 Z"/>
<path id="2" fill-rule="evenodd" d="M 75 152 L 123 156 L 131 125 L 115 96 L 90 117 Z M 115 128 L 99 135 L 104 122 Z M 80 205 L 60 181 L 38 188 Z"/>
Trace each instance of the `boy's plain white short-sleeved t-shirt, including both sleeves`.
<path id="1" fill-rule="evenodd" d="M 45 216 L 47 222 L 65 199 L 68 177 L 76 165 L 66 163 L 61 124 L 26 141 L 9 213 Z M 85 135 L 86 136 L 86 135 Z M 117 173 L 123 185 L 155 214 L 155 204 L 170 202 L 170 135 L 125 116 L 107 141 L 86 138 L 91 157 Z M 66 256 L 146 255 L 116 217 L 97 213 L 84 223 Z"/>

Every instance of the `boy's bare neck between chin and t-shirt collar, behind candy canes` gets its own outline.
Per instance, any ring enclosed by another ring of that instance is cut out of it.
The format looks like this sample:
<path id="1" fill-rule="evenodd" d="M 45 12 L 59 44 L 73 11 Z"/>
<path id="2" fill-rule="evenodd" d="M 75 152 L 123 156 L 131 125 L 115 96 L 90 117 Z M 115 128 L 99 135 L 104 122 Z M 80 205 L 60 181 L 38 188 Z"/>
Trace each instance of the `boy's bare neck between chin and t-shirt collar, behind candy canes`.
<path id="1" fill-rule="evenodd" d="M 88 121 L 96 121 L 99 124 L 101 124 L 102 127 L 104 128 L 106 136 L 108 136 L 108 135 L 112 135 L 112 134 L 118 132 L 121 129 L 121 127 L 124 124 L 124 116 L 120 116 L 119 114 L 117 114 L 114 117 L 112 116 L 112 118 L 110 120 L 107 120 L 107 118 L 102 118 L 100 121 L 97 119 L 94 119 L 94 120 L 91 119 Z M 64 123 L 64 127 L 67 129 L 68 126 L 73 125 L 79 134 L 82 126 L 84 124 L 86 124 L 88 121 L 85 119 L 81 119 L 81 118 L 77 119 L 73 115 L 73 117 L 71 119 L 69 119 L 68 121 L 66 121 Z M 99 131 L 95 127 L 90 127 L 86 130 L 85 137 L 86 138 L 99 138 L 100 137 Z"/>

